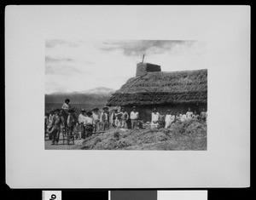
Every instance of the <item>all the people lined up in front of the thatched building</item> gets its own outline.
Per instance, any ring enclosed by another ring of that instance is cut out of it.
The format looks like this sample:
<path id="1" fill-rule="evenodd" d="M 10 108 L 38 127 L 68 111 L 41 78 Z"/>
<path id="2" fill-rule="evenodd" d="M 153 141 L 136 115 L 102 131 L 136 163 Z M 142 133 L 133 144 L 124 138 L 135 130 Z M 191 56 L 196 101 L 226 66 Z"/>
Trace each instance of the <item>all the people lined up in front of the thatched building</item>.
<path id="1" fill-rule="evenodd" d="M 70 100 L 65 100 L 65 103 L 61 106 L 61 109 L 52 109 L 51 111 L 45 112 L 44 117 L 44 130 L 51 130 L 49 139 L 52 140 L 52 145 L 57 145 L 62 130 L 67 135 L 73 135 L 74 129 L 80 127 L 81 135 L 74 134 L 76 139 L 90 136 L 93 132 L 100 132 L 109 129 L 110 126 L 113 128 L 128 129 L 128 123 L 131 124 L 131 129 L 135 129 L 138 126 L 139 112 L 137 107 L 133 106 L 130 114 L 125 110 L 125 107 L 121 107 L 120 111 L 118 107 L 113 108 L 112 114 L 109 112 L 108 106 L 102 108 L 102 112 L 99 108 L 94 108 L 92 111 L 85 111 L 81 109 L 79 117 L 76 117 L 75 111 L 69 104 Z M 207 111 L 203 109 L 201 114 L 197 114 L 196 111 L 192 112 L 190 108 L 183 114 L 177 112 L 177 115 L 173 115 L 172 111 L 167 110 L 166 115 L 162 111 L 157 111 L 154 108 L 151 117 L 151 128 L 170 128 L 172 123 L 176 121 L 185 122 L 189 120 L 203 120 L 207 122 Z M 62 126 L 62 129 L 61 129 Z"/>

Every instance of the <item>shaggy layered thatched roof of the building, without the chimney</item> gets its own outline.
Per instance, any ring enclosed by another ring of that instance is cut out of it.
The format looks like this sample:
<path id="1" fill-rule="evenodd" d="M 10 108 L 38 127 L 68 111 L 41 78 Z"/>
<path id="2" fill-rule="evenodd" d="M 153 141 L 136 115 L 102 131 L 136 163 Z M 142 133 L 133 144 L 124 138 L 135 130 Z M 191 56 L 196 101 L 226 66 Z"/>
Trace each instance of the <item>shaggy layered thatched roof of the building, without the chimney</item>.
<path id="1" fill-rule="evenodd" d="M 108 100 L 108 106 L 207 103 L 207 70 L 148 72 L 130 78 Z"/>

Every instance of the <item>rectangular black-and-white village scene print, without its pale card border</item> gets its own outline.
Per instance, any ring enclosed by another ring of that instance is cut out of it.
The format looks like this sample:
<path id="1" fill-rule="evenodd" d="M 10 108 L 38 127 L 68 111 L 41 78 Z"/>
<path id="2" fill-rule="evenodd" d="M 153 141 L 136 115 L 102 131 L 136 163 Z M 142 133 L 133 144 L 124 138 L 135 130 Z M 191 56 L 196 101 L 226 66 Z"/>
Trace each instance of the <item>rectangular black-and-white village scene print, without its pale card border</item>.
<path id="1" fill-rule="evenodd" d="M 45 42 L 45 149 L 207 150 L 207 43 Z"/>

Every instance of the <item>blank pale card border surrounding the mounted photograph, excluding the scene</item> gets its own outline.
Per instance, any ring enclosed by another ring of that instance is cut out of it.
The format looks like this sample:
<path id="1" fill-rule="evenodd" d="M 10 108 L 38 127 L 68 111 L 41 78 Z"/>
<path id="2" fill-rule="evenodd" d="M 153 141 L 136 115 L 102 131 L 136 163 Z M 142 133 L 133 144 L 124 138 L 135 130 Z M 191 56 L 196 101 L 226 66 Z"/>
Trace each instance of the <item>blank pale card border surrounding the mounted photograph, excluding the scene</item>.
<path id="1" fill-rule="evenodd" d="M 207 43 L 207 56 L 198 63 L 208 73 L 207 151 L 44 150 L 49 39 Z M 11 188 L 250 186 L 249 6 L 10 5 L 5 59 L 6 183 Z"/>

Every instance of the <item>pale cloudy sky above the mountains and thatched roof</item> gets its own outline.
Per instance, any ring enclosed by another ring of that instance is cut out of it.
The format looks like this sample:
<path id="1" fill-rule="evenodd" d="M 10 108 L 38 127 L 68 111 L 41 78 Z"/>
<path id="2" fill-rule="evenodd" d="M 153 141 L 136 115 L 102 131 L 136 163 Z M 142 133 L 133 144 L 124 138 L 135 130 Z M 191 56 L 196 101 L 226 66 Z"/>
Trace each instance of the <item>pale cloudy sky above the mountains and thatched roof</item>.
<path id="1" fill-rule="evenodd" d="M 51 39 L 45 41 L 45 93 L 119 89 L 135 77 L 143 54 L 161 71 L 207 68 L 205 41 Z"/>

